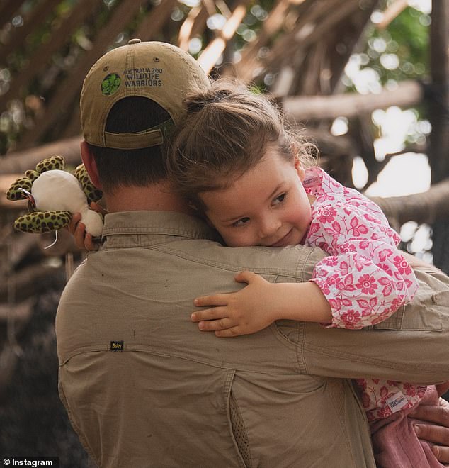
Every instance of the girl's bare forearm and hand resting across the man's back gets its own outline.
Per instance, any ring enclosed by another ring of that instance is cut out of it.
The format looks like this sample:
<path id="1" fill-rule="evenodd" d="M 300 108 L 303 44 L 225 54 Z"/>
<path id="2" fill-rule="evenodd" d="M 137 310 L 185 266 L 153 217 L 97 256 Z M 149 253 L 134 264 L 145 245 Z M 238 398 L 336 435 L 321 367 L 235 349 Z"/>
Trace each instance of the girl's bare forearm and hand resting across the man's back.
<path id="1" fill-rule="evenodd" d="M 198 322 L 200 330 L 232 337 L 256 333 L 280 318 L 331 322 L 331 307 L 312 282 L 273 284 L 251 272 L 241 272 L 235 280 L 248 285 L 237 293 L 195 299 L 195 306 L 214 306 L 192 313 L 192 321 Z"/>

